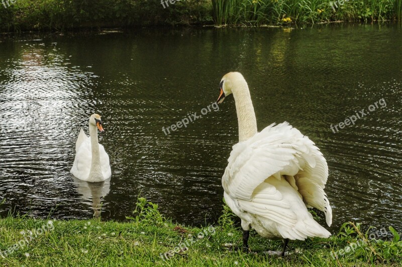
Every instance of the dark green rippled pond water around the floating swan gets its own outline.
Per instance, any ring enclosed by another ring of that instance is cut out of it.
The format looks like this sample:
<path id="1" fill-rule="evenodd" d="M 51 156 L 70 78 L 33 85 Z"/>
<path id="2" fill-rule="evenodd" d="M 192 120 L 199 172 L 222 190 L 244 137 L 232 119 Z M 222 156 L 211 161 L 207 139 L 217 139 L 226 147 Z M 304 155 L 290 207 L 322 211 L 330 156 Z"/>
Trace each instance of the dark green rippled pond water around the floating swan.
<path id="1" fill-rule="evenodd" d="M 397 25 L 3 38 L 0 215 L 91 218 L 102 202 L 103 219 L 121 220 L 141 194 L 175 221 L 216 222 L 238 142 L 233 97 L 169 135 L 162 127 L 200 115 L 222 76 L 237 70 L 259 130 L 287 120 L 322 150 L 333 230 L 350 220 L 401 230 L 401 52 Z M 362 109 L 355 125 L 338 125 Z M 94 112 L 113 172 L 102 185 L 69 173 L 79 129 L 88 133 Z"/>

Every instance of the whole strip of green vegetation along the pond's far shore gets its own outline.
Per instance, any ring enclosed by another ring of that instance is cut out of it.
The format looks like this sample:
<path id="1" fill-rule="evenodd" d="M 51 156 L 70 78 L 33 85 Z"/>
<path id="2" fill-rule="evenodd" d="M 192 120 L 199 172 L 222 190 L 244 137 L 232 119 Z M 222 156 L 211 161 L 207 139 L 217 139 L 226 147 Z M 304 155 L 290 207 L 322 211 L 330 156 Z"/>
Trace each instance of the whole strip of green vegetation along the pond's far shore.
<path id="1" fill-rule="evenodd" d="M 260 26 L 402 18 L 402 0 L 0 1 L 3 32 L 159 25 Z"/>

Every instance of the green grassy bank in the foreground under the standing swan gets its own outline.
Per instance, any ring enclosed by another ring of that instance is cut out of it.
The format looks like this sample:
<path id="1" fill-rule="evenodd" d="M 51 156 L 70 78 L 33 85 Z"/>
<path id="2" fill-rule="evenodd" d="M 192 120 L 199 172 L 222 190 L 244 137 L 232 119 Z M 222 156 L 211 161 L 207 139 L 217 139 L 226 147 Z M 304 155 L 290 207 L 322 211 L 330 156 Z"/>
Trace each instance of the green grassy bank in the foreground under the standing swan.
<path id="1" fill-rule="evenodd" d="M 244 253 L 235 249 L 241 245 L 242 236 L 240 229 L 233 223 L 232 214 L 228 209 L 225 209 L 217 225 L 203 228 L 187 227 L 166 220 L 159 214 L 156 205 L 140 199 L 133 217 L 127 222 L 99 220 L 50 222 L 27 216 L 9 216 L 0 219 L 0 253 L 6 254 L 6 256 L 0 254 L 0 265 L 363 266 L 369 263 L 400 266 L 402 264 L 402 242 L 396 233 L 393 239 L 392 234 L 389 234 L 387 241 L 370 240 L 370 235 L 362 233 L 360 228 L 360 225 L 354 226 L 348 223 L 338 234 L 329 239 L 291 241 L 288 248 L 290 253 L 280 258 L 263 251 L 279 250 L 282 241 L 270 241 L 259 237 L 255 232 L 250 235 L 249 244 L 250 249 L 257 253 Z M 382 230 L 381 235 L 385 233 L 384 231 L 391 233 L 393 229 Z M 376 234 L 377 237 L 379 235 Z M 336 256 L 332 256 L 334 253 Z"/>

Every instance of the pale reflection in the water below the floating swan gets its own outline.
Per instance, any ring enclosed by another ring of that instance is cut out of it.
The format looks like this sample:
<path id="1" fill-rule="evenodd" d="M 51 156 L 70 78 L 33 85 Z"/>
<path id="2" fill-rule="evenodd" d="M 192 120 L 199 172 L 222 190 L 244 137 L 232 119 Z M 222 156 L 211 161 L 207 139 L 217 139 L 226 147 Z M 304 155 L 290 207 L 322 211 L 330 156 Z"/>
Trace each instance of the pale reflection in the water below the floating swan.
<path id="1" fill-rule="evenodd" d="M 99 218 L 102 212 L 102 198 L 106 197 L 110 192 L 110 178 L 99 183 L 88 183 L 86 181 L 79 180 L 71 175 L 73 184 L 76 186 L 78 194 L 84 200 L 83 203 L 92 207 L 94 218 Z"/>

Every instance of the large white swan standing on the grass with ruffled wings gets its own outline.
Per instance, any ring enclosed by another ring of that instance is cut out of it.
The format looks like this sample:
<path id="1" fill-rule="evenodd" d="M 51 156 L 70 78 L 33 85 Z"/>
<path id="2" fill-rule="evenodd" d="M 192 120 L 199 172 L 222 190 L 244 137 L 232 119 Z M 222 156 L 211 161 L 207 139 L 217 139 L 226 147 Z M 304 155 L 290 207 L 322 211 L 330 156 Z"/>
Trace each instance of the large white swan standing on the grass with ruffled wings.
<path id="1" fill-rule="evenodd" d="M 325 213 L 328 226 L 332 210 L 324 192 L 328 166 L 315 144 L 289 123 L 269 125 L 257 132 L 250 91 L 243 75 L 226 74 L 220 84 L 221 104 L 233 93 L 239 124 L 239 143 L 233 146 L 222 177 L 227 205 L 241 218 L 243 248 L 248 251 L 250 228 L 269 239 L 331 235 L 307 208 Z"/>

